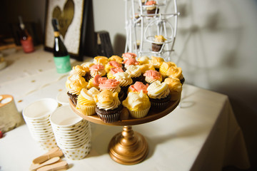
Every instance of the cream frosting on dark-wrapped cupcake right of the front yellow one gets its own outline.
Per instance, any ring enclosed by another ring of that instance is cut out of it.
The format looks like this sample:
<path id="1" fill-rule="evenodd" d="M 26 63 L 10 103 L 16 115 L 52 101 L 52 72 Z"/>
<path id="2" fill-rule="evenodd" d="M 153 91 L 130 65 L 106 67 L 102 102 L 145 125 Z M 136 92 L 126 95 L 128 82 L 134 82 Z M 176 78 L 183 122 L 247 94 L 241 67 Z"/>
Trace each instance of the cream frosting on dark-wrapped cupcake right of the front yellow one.
<path id="1" fill-rule="evenodd" d="M 151 83 L 147 88 L 147 95 L 149 98 L 166 98 L 168 94 L 170 93 L 170 90 L 168 89 L 168 84 L 165 82 L 161 83 L 161 81 L 155 81 Z"/>

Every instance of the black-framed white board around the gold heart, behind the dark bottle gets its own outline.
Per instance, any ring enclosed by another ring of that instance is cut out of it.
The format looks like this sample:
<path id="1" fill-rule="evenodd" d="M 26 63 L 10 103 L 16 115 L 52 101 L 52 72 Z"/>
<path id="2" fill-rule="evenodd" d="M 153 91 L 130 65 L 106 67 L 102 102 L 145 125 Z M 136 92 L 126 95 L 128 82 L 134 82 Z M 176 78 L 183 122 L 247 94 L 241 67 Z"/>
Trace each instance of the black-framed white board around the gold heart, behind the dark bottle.
<path id="1" fill-rule="evenodd" d="M 86 43 L 86 24 L 88 19 L 89 1 L 88 0 L 46 0 L 46 15 L 44 24 L 44 50 L 53 51 L 54 48 L 54 28 L 51 25 L 53 11 L 58 6 L 63 12 L 63 6 L 74 3 L 74 17 L 64 35 L 64 44 L 71 56 L 77 61 L 83 61 L 84 46 Z"/>

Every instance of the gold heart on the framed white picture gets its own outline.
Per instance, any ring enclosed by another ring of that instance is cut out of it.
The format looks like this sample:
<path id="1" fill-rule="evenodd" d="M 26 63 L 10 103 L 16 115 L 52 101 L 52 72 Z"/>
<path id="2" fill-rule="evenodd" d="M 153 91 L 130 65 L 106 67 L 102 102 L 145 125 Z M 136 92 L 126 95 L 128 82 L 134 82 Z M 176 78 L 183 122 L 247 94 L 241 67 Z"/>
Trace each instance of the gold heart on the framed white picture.
<path id="1" fill-rule="evenodd" d="M 74 18 L 74 1 L 66 1 L 64 4 L 64 11 L 61 11 L 59 6 L 54 7 L 52 16 L 53 19 L 55 18 L 58 20 L 60 33 L 65 38 L 66 32 Z"/>

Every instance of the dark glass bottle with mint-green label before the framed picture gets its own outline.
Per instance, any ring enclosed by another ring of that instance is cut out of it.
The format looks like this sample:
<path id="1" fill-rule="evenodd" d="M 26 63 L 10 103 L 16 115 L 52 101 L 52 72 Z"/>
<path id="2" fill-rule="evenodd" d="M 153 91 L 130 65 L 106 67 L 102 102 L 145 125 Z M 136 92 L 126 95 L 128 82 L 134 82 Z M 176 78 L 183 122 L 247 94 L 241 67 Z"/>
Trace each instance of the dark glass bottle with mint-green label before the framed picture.
<path id="1" fill-rule="evenodd" d="M 62 41 L 57 19 L 52 19 L 52 24 L 54 26 L 54 63 L 56 71 L 57 73 L 66 73 L 71 71 L 70 56 L 64 41 Z"/>

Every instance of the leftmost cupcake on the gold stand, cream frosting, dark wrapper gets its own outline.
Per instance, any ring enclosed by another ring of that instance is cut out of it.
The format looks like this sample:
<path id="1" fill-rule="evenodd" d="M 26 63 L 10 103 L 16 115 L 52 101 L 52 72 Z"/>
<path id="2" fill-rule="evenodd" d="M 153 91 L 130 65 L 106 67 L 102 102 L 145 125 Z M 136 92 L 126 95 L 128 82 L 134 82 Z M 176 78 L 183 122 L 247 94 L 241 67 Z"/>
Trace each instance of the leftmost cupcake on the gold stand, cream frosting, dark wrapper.
<path id="1" fill-rule="evenodd" d="M 74 105 L 77 103 L 77 98 L 82 88 L 86 88 L 87 85 L 88 83 L 85 79 L 79 75 L 72 75 L 67 78 L 65 83 L 66 89 L 68 90 L 67 94 Z"/>

